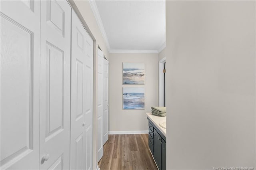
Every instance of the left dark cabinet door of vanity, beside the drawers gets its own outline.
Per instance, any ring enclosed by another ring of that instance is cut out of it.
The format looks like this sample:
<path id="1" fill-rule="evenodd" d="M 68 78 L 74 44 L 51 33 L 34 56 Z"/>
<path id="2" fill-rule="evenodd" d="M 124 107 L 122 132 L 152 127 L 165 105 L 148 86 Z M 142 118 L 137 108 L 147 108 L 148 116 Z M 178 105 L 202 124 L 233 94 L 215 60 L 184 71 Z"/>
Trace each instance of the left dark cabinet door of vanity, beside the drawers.
<path id="1" fill-rule="evenodd" d="M 161 136 L 158 134 L 158 132 L 156 130 L 154 130 L 154 159 L 156 161 L 156 164 L 159 168 L 159 170 L 161 170 Z"/>

